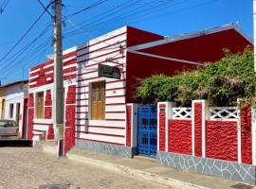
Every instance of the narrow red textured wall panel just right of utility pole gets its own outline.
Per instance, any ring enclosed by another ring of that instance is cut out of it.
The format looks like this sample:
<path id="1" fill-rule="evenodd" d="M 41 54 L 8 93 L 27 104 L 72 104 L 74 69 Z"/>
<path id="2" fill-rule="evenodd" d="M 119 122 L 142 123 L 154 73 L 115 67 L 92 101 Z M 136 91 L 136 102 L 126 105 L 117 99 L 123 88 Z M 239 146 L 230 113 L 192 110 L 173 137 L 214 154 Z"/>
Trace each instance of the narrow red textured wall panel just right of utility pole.
<path id="1" fill-rule="evenodd" d="M 65 106 L 64 154 L 75 145 L 75 105 Z"/>

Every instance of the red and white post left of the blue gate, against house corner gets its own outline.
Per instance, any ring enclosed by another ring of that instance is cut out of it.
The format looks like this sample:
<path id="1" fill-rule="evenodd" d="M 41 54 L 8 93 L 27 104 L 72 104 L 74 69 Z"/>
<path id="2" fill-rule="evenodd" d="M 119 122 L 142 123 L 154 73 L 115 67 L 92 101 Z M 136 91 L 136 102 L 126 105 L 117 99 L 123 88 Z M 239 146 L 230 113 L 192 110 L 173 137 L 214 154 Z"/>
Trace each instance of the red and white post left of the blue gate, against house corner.
<path id="1" fill-rule="evenodd" d="M 126 106 L 125 146 L 137 147 L 137 104 Z"/>

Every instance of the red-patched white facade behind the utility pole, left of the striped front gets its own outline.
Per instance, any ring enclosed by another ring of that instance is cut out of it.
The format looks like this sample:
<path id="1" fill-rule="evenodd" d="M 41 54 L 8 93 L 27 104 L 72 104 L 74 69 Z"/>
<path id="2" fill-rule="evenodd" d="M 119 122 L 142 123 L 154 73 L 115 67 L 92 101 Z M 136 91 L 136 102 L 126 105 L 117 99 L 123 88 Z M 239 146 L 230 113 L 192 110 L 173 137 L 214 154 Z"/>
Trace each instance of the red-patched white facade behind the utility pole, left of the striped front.
<path id="1" fill-rule="evenodd" d="M 64 50 L 65 151 L 75 144 L 76 54 L 76 47 Z M 29 71 L 28 139 L 54 139 L 52 100 L 53 60 L 47 60 Z"/>

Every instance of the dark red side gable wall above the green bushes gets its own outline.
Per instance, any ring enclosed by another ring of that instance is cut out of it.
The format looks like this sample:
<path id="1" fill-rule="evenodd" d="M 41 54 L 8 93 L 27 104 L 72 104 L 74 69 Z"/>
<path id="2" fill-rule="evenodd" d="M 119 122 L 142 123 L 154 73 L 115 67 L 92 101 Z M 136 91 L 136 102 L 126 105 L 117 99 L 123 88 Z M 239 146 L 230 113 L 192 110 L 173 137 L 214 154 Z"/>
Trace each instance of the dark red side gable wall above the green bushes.
<path id="1" fill-rule="evenodd" d="M 140 35 L 138 36 L 137 38 L 141 37 Z M 129 44 L 129 33 L 127 41 Z M 166 43 L 140 51 L 182 60 L 212 62 L 220 60 L 224 57 L 224 48 L 228 48 L 231 52 L 235 53 L 243 51 L 247 45 L 252 44 L 248 43 L 247 40 L 234 29 L 229 29 L 227 31 L 222 31 L 215 34 L 177 41 L 174 43 Z M 156 74 L 173 76 L 182 71 L 188 71 L 196 68 L 197 66 L 192 64 L 185 64 L 170 60 L 160 60 L 128 52 L 126 67 L 127 102 L 139 102 L 139 100 L 135 99 L 134 97 L 138 83 L 137 78 L 151 77 Z"/>

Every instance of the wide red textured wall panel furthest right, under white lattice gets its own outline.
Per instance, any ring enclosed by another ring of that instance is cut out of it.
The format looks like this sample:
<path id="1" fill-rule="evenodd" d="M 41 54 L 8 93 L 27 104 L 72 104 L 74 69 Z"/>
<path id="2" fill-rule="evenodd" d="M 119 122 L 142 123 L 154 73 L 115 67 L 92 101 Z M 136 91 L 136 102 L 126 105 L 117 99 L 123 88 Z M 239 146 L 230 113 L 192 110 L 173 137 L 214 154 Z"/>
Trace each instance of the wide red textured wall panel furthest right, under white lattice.
<path id="1" fill-rule="evenodd" d="M 206 122 L 207 158 L 237 161 L 237 122 Z"/>

